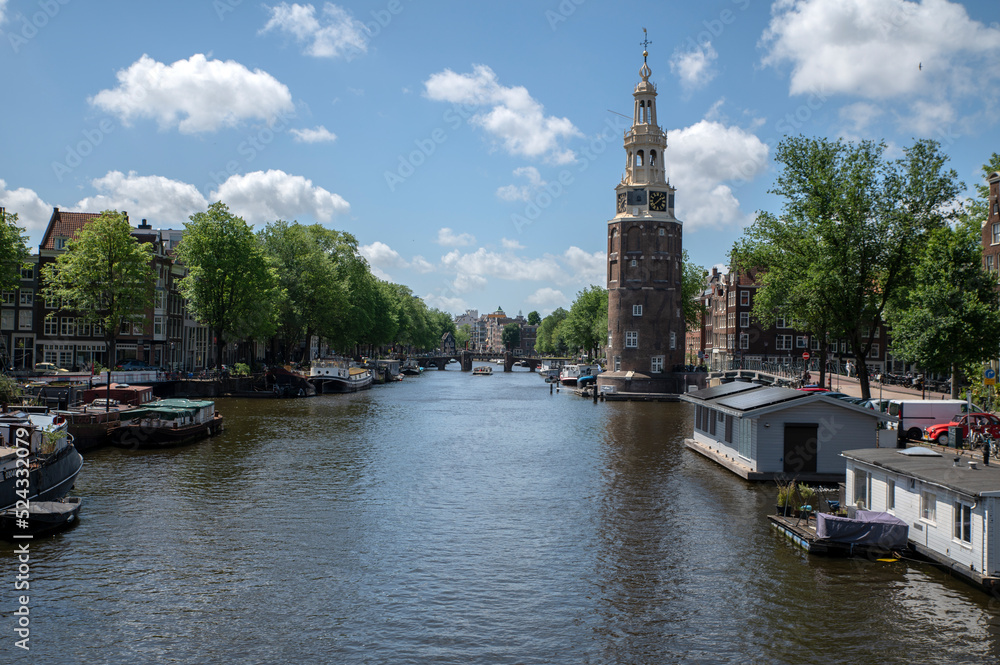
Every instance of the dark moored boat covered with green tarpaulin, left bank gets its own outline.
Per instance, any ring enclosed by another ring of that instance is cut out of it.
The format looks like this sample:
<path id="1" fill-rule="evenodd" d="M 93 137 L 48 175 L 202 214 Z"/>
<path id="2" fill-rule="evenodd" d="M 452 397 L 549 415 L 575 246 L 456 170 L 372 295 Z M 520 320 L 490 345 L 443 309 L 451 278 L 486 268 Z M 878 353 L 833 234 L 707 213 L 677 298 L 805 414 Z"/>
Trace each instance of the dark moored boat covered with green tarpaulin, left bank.
<path id="1" fill-rule="evenodd" d="M 119 448 L 171 448 L 195 443 L 223 429 L 222 414 L 211 400 L 161 399 L 130 412 L 111 432 Z"/>

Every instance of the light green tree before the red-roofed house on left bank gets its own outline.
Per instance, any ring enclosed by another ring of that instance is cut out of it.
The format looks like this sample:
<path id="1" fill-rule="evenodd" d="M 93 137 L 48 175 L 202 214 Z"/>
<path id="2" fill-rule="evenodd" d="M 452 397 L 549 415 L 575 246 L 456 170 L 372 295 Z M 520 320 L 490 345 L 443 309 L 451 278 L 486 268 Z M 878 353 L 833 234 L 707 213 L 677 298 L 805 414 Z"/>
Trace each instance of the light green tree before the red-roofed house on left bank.
<path id="1" fill-rule="evenodd" d="M 42 268 L 42 297 L 100 330 L 108 365 L 114 366 L 118 332 L 142 323 L 153 306 L 152 260 L 152 245 L 140 244 L 132 235 L 125 214 L 105 210 L 66 243 L 65 253 Z"/>

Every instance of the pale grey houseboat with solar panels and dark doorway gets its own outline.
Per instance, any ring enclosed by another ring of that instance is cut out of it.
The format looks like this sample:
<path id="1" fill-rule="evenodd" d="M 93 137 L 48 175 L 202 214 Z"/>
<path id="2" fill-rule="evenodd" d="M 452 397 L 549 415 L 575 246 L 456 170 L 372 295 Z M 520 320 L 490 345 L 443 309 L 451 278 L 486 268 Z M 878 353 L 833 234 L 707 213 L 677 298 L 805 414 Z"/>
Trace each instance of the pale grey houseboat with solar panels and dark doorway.
<path id="1" fill-rule="evenodd" d="M 878 423 L 895 421 L 823 393 L 741 381 L 681 399 L 695 405 L 687 447 L 747 480 L 841 481 L 846 466 L 841 453 L 875 448 L 880 432 L 890 431 Z"/>

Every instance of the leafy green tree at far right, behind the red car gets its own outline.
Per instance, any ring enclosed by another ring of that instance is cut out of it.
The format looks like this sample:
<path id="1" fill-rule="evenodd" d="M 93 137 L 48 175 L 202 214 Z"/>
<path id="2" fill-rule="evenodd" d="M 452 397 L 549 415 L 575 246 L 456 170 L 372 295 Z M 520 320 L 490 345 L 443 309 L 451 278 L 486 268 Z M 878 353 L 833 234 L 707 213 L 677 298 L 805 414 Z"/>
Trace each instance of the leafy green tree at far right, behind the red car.
<path id="1" fill-rule="evenodd" d="M 955 398 L 962 365 L 1000 354 L 1000 302 L 996 279 L 982 268 L 980 238 L 976 220 L 935 229 L 913 286 L 888 313 L 893 355 L 951 374 Z"/>

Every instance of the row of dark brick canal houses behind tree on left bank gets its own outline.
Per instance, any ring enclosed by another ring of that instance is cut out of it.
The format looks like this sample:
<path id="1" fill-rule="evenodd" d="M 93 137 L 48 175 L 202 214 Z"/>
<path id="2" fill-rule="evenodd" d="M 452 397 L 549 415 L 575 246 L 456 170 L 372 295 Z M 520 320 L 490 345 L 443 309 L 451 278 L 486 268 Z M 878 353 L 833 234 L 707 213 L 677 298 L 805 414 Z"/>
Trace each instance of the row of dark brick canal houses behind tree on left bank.
<path id="1" fill-rule="evenodd" d="M 153 246 L 156 299 L 142 323 L 119 331 L 116 358 L 109 357 L 100 328 L 59 309 L 57 303 L 44 301 L 40 295 L 42 267 L 64 253 L 66 243 L 97 216 L 53 209 L 37 254 L 32 254 L 31 264 L 21 271 L 19 288 L 2 292 L 0 362 L 19 371 L 31 370 L 40 362 L 83 370 L 95 361 L 107 367 L 125 358 L 171 370 L 197 371 L 212 366 L 214 349 L 209 331 L 190 316 L 178 291 L 186 269 L 174 261 L 173 250 L 183 230 L 154 229 L 146 220 L 133 228 L 139 242 Z"/>

